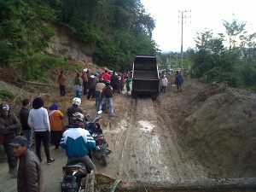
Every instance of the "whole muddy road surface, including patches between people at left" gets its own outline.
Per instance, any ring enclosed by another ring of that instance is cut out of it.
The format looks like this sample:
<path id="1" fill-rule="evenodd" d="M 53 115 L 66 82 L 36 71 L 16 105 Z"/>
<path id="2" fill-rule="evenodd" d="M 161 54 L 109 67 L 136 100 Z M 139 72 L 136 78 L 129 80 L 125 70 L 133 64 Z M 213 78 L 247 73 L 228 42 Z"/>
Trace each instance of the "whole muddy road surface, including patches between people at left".
<path id="1" fill-rule="evenodd" d="M 93 118 L 96 115 L 94 101 L 82 98 L 84 111 Z M 103 132 L 112 153 L 108 166 L 95 160 L 97 171 L 123 181 L 183 181 L 206 177 L 198 163 L 190 162 L 177 145 L 177 136 L 172 130 L 172 119 L 166 124 L 160 115 L 163 106 L 149 98 L 132 100 L 131 95 L 116 95 L 113 98 L 115 116 L 102 113 L 100 120 Z M 171 121 L 170 121 L 171 120 Z M 42 148 L 44 154 L 44 148 Z M 61 167 L 66 163 L 62 149 L 50 147 L 50 154 L 56 159 L 47 165 L 45 157 L 42 166 L 47 191 L 60 191 Z M 4 155 L 4 154 L 1 154 Z M 14 192 L 16 180 L 9 178 L 7 163 L 1 163 L 0 191 Z"/>

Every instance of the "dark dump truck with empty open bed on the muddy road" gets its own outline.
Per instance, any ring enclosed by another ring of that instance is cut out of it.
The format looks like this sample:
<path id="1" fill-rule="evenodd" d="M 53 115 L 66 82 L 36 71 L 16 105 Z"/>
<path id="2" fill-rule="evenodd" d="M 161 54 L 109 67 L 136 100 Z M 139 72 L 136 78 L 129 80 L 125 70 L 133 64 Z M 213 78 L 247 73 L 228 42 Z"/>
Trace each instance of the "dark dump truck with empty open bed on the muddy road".
<path id="1" fill-rule="evenodd" d="M 132 67 L 131 97 L 151 96 L 156 100 L 160 93 L 160 77 L 155 55 L 136 55 Z"/>

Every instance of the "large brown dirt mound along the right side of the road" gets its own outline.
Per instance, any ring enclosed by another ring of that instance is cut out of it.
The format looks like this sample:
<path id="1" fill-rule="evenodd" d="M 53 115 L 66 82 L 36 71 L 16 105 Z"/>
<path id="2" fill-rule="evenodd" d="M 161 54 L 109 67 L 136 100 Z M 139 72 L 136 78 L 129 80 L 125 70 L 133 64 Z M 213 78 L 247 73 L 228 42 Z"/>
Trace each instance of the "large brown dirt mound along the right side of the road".
<path id="1" fill-rule="evenodd" d="M 256 95 L 224 84 L 184 84 L 182 93 L 162 96 L 161 105 L 176 119 L 186 153 L 201 161 L 209 177 L 255 177 Z"/>

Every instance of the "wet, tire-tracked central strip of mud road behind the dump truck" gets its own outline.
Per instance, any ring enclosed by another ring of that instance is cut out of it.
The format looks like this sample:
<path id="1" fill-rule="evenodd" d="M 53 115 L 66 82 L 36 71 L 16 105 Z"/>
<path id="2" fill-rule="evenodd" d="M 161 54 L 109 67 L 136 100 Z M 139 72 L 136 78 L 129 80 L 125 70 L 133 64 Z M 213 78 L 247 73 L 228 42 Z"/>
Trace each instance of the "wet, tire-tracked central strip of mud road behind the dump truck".
<path id="1" fill-rule="evenodd" d="M 160 102 L 119 96 L 125 113 L 117 126 L 106 130 L 113 150 L 108 167 L 101 172 L 126 182 L 184 181 L 203 179 L 205 172 L 186 159 L 176 134 L 166 121 Z M 118 101 L 117 101 L 118 102 Z"/>

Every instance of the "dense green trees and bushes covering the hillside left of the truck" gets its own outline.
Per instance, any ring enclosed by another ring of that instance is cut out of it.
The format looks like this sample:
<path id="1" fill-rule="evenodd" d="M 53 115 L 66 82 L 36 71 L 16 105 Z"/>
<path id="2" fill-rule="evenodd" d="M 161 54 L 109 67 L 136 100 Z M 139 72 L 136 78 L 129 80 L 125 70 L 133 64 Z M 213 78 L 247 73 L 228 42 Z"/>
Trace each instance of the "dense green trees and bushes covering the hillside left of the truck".
<path id="1" fill-rule="evenodd" d="M 154 54 L 154 20 L 137 0 L 0 0 L 0 65 L 15 66 L 26 79 L 42 79 L 64 63 L 44 54 L 56 32 L 67 26 L 73 36 L 95 47 L 96 64 L 131 69 L 136 54 Z"/>

